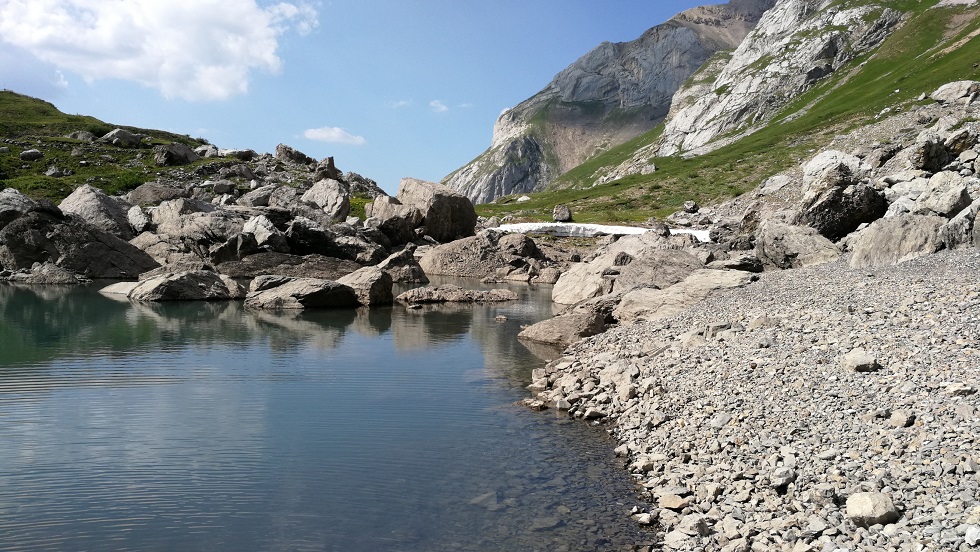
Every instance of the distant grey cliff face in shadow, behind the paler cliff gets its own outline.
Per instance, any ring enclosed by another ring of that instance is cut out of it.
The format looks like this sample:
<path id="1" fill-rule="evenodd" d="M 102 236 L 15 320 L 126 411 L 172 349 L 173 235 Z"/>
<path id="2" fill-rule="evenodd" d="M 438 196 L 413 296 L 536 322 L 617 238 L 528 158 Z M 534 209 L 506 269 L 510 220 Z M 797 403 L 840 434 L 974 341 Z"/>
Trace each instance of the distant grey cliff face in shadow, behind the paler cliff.
<path id="1" fill-rule="evenodd" d="M 735 48 L 775 0 L 683 12 L 637 40 L 603 43 L 505 112 L 489 149 L 443 183 L 474 202 L 541 190 L 592 155 L 649 131 L 715 52 Z"/>

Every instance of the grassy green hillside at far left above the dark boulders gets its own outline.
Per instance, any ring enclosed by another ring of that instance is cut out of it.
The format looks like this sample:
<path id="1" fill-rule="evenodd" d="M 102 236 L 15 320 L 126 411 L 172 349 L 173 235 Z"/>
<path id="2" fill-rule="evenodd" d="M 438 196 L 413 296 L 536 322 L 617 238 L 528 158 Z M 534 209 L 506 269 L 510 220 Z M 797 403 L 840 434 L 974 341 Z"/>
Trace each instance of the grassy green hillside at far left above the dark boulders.
<path id="1" fill-rule="evenodd" d="M 89 183 L 107 193 L 121 193 L 156 176 L 159 167 L 144 148 L 119 148 L 108 144 L 91 144 L 65 138 L 65 135 L 87 130 L 96 136 L 124 128 L 150 137 L 150 144 L 181 142 L 191 147 L 202 140 L 159 130 L 110 125 L 94 117 L 67 115 L 48 102 L 0 91 L 0 188 L 14 188 L 35 197 L 60 201 L 81 184 Z M 39 161 L 26 162 L 20 153 L 36 148 L 44 152 Z M 80 155 L 72 155 L 72 150 Z M 74 174 L 60 178 L 45 176 L 50 166 Z"/>

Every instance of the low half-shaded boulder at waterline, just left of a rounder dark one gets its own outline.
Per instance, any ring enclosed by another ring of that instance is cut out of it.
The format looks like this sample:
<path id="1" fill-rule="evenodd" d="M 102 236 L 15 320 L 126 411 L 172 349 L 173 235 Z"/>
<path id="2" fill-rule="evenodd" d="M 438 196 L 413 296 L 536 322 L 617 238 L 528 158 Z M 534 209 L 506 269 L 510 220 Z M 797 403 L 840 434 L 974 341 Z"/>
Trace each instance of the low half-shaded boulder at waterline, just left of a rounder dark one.
<path id="1" fill-rule="evenodd" d="M 354 308 L 360 305 L 354 290 L 331 280 L 286 279 L 280 285 L 249 291 L 245 306 L 250 309 Z"/>

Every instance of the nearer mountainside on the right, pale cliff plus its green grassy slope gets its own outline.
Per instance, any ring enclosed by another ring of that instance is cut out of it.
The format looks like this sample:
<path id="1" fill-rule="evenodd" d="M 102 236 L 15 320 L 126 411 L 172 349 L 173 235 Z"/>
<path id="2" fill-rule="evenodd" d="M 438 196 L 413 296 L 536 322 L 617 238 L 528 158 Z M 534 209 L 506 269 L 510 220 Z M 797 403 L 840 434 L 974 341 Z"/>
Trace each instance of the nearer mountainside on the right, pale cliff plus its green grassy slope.
<path id="1" fill-rule="evenodd" d="M 550 219 L 565 203 L 583 222 L 642 221 L 737 196 L 842 132 L 980 79 L 978 59 L 976 0 L 779 0 L 687 79 L 663 124 L 481 214 Z"/>

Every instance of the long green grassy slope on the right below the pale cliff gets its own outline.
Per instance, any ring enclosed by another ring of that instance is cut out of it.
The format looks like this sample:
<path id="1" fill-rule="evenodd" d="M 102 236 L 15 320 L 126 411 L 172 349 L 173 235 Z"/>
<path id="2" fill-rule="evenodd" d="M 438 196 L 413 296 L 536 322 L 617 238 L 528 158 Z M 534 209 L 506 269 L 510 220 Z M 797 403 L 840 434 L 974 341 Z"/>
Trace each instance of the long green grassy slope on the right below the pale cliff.
<path id="1" fill-rule="evenodd" d="M 765 178 L 799 164 L 835 134 L 856 128 L 883 109 L 908 105 L 947 82 L 980 80 L 980 13 L 976 8 L 929 9 L 906 1 L 910 20 L 878 51 L 854 60 L 809 90 L 755 133 L 710 154 L 655 158 L 658 170 L 590 187 L 592 175 L 616 166 L 657 140 L 655 129 L 600 154 L 559 178 L 563 189 L 536 194 L 517 204 L 513 197 L 478 206 L 484 216 L 515 215 L 547 220 L 557 203 L 568 204 L 581 222 L 642 221 L 676 211 L 684 201 L 733 197 Z M 568 188 L 571 186 L 572 188 Z"/>

